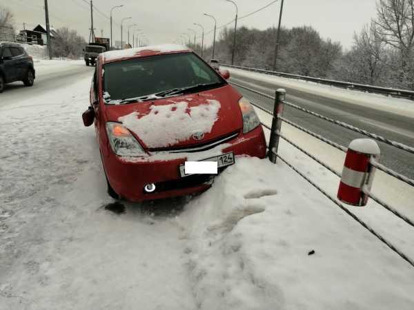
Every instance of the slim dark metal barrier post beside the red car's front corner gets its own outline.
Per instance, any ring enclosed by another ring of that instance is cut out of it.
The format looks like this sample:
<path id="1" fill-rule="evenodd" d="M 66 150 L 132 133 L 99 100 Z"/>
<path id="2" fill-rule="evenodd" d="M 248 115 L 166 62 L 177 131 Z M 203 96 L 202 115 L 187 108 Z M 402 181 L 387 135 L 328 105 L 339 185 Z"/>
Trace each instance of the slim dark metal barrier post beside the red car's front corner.
<path id="1" fill-rule="evenodd" d="M 276 90 L 275 106 L 273 110 L 272 130 L 270 131 L 268 158 L 272 163 L 276 163 L 277 149 L 279 148 L 279 132 L 282 128 L 282 120 L 278 116 L 283 116 L 284 101 L 286 90 L 279 88 Z"/>

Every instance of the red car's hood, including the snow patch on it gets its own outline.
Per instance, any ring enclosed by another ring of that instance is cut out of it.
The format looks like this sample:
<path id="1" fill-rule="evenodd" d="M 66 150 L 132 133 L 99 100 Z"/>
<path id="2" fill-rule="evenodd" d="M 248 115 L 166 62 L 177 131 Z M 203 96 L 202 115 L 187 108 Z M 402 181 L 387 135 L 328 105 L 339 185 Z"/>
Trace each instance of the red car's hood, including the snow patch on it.
<path id="1" fill-rule="evenodd" d="M 107 121 L 121 122 L 145 149 L 175 149 L 216 141 L 243 127 L 230 85 L 155 101 L 106 105 Z"/>

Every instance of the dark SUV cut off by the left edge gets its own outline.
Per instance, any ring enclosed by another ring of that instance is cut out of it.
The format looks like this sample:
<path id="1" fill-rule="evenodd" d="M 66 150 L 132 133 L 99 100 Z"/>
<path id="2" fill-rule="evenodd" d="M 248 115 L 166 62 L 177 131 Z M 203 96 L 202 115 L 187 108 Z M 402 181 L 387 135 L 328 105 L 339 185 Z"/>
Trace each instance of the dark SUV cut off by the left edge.
<path id="1" fill-rule="evenodd" d="M 0 42 L 0 92 L 6 83 L 23 81 L 24 85 L 34 83 L 33 59 L 21 45 Z"/>

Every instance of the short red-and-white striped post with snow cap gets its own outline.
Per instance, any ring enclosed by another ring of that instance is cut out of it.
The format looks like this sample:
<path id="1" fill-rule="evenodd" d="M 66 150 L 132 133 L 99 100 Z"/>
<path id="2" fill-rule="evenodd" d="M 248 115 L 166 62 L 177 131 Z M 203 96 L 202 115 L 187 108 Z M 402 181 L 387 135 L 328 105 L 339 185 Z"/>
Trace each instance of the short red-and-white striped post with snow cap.
<path id="1" fill-rule="evenodd" d="M 351 141 L 339 183 L 337 194 L 339 200 L 357 207 L 364 207 L 368 203 L 376 169 L 371 165 L 371 158 L 377 162 L 380 154 L 380 147 L 372 139 Z"/>

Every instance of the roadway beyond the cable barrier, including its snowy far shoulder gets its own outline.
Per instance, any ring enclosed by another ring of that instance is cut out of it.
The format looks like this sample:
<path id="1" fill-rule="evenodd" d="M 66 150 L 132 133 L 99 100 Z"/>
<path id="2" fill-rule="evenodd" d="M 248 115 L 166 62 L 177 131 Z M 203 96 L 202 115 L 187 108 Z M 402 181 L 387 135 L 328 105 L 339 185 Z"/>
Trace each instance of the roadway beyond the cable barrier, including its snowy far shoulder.
<path id="1" fill-rule="evenodd" d="M 378 94 L 364 94 L 353 90 L 343 90 L 306 81 L 284 79 L 268 74 L 230 69 L 231 81 L 274 96 L 279 87 L 286 89 L 288 102 L 295 103 L 313 112 L 338 121 L 354 125 L 393 141 L 414 147 L 414 101 L 388 99 Z M 249 92 L 240 87 L 248 99 L 273 110 L 273 101 Z M 355 138 L 364 137 L 332 123 L 322 121 L 293 107 L 286 106 L 286 118 L 308 130 L 345 145 Z M 414 178 L 414 155 L 384 143 L 379 143 L 381 161 L 397 172 Z"/>

